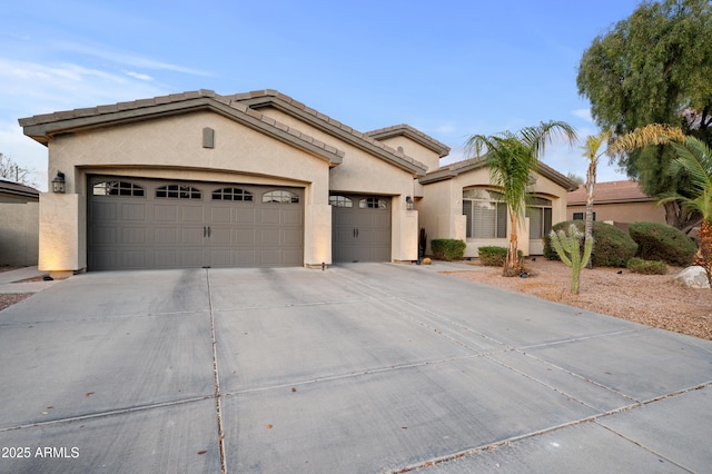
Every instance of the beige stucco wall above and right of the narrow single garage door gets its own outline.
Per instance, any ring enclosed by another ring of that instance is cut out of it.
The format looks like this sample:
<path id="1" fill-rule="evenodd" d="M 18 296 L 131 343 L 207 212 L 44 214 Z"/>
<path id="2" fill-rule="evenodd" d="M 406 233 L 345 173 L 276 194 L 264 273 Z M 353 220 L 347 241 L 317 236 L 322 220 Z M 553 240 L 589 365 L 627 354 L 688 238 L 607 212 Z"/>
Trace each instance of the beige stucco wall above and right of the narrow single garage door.
<path id="1" fill-rule="evenodd" d="M 407 196 L 414 196 L 413 174 L 277 109 L 263 108 L 259 111 L 344 151 L 342 164 L 329 171 L 329 190 L 390 196 L 390 258 L 396 261 L 418 258 L 417 218 L 414 221 L 414 213 L 406 213 L 405 203 Z"/>

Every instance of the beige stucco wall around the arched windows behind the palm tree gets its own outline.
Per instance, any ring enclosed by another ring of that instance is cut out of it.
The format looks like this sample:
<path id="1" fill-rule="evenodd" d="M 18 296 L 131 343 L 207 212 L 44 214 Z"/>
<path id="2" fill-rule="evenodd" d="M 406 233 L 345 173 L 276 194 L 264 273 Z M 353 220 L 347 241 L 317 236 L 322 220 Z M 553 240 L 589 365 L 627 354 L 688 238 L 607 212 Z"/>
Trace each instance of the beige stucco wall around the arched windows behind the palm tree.
<path id="1" fill-rule="evenodd" d="M 465 257 L 476 257 L 477 248 L 483 246 L 507 247 L 508 241 L 506 238 L 466 238 L 466 217 L 463 215 L 462 209 L 463 189 L 473 186 L 492 189 L 488 184 L 490 170 L 486 167 L 482 167 L 452 179 L 425 185 L 423 187 L 423 200 L 418 203 L 418 209 L 422 216 L 422 227 L 425 227 L 428 234 L 428 241 L 434 238 L 465 240 L 467 243 Z M 566 220 L 566 190 L 564 188 L 548 178 L 537 176 L 536 184 L 530 188 L 530 191 L 552 201 L 552 224 Z M 528 218 L 522 219 L 517 225 L 517 247 L 524 255 L 538 255 L 543 249 L 542 240 L 530 241 L 528 229 Z M 511 230 L 511 224 L 507 219 L 507 236 Z"/>

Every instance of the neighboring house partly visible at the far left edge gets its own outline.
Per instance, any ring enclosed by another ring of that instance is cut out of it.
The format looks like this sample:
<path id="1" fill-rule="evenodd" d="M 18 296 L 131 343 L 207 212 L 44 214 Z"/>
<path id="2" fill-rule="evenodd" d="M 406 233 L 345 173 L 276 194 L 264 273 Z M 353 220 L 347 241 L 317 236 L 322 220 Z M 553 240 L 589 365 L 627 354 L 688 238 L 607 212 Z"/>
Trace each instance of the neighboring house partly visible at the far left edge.
<path id="1" fill-rule="evenodd" d="M 39 195 L 34 188 L 0 178 L 0 266 L 37 265 Z"/>

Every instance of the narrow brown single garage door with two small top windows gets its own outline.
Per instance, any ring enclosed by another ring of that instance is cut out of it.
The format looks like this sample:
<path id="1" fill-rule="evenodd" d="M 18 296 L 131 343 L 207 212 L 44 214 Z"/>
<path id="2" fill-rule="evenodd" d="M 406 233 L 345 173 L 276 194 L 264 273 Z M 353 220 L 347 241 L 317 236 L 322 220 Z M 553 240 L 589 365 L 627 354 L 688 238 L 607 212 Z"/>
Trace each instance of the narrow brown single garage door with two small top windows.
<path id="1" fill-rule="evenodd" d="M 334 261 L 390 260 L 390 198 L 333 195 L 332 259 Z"/>

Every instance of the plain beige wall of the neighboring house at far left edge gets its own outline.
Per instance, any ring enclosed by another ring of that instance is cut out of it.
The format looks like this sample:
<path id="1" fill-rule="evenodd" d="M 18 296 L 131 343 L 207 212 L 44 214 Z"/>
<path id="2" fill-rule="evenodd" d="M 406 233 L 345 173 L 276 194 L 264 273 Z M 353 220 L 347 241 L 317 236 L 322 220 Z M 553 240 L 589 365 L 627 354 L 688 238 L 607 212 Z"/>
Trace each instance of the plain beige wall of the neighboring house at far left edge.
<path id="1" fill-rule="evenodd" d="M 39 214 L 39 203 L 0 203 L 0 266 L 37 265 Z"/>

